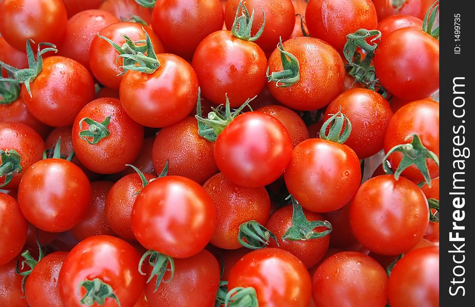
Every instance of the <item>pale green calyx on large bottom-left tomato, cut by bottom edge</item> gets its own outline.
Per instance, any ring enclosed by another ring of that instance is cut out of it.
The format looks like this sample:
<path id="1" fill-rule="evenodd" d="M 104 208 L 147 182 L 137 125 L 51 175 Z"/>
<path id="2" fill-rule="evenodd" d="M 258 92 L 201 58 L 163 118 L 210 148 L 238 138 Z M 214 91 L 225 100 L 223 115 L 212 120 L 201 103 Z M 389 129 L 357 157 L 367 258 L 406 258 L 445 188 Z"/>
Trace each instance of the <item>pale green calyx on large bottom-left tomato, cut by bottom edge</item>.
<path id="1" fill-rule="evenodd" d="M 104 282 L 100 278 L 94 278 L 93 280 L 83 280 L 79 283 L 78 291 L 81 287 L 86 288 L 86 294 L 81 298 L 80 303 L 87 306 L 92 306 L 95 303 L 98 305 L 104 305 L 107 298 L 113 298 L 117 305 L 120 306 L 119 298 L 115 295 L 114 290 L 110 284 Z"/>

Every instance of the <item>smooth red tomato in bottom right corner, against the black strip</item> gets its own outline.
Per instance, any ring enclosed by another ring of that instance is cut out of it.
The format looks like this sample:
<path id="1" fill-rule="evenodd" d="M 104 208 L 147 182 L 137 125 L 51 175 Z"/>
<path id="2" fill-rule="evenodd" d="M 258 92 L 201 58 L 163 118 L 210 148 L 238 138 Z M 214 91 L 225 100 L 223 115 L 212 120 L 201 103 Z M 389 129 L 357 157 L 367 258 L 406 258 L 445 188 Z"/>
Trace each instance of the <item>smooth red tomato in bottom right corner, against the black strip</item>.
<path id="1" fill-rule="evenodd" d="M 439 248 L 405 254 L 391 271 L 388 294 L 394 307 L 439 306 Z"/>

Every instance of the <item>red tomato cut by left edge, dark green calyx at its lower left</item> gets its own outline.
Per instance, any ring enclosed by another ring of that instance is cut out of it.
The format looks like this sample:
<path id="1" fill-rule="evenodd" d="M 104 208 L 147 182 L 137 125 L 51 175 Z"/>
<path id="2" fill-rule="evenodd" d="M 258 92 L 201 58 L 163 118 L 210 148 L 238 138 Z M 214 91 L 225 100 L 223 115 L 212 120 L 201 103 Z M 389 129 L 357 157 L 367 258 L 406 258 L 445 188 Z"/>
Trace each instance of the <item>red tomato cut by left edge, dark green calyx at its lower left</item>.
<path id="1" fill-rule="evenodd" d="M 42 159 L 45 143 L 35 130 L 25 124 L 0 122 L 0 150 L 6 152 L 0 157 L 0 184 L 2 189 L 14 190 L 25 171 Z M 11 157 L 16 156 L 13 150 L 19 155 L 18 163 L 9 161 Z M 10 183 L 4 185 L 11 172 L 13 177 Z"/>

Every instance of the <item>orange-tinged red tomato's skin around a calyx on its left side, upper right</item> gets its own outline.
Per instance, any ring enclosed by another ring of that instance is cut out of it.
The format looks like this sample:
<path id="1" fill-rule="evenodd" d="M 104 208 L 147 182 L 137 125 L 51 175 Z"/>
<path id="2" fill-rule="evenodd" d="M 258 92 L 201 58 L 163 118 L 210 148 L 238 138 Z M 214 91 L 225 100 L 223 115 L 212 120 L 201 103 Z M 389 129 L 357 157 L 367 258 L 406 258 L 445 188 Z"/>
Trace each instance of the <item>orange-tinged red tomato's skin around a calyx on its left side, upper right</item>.
<path id="1" fill-rule="evenodd" d="M 275 82 L 269 84 L 272 96 L 279 102 L 300 111 L 311 111 L 327 105 L 340 94 L 345 67 L 335 48 L 317 38 L 296 37 L 284 41 L 283 49 L 298 59 L 300 79 L 288 87 L 277 87 Z M 282 71 L 277 49 L 269 57 L 269 71 Z"/>

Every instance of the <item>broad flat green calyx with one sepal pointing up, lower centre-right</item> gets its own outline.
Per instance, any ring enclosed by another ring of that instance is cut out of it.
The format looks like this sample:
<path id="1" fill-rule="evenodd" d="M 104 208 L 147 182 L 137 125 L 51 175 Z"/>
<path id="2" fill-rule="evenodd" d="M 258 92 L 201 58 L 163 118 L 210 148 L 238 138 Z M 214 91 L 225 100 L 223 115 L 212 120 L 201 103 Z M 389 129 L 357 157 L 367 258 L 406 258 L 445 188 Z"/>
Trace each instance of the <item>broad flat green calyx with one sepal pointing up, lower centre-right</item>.
<path id="1" fill-rule="evenodd" d="M 332 224 L 330 224 L 328 221 L 309 222 L 303 213 L 302 206 L 300 206 L 300 204 L 292 195 L 287 197 L 287 199 L 289 198 L 292 201 L 293 207 L 292 227 L 284 233 L 282 240 L 305 241 L 309 239 L 319 239 L 332 232 Z M 327 230 L 316 232 L 314 229 L 317 227 L 326 227 Z"/>

